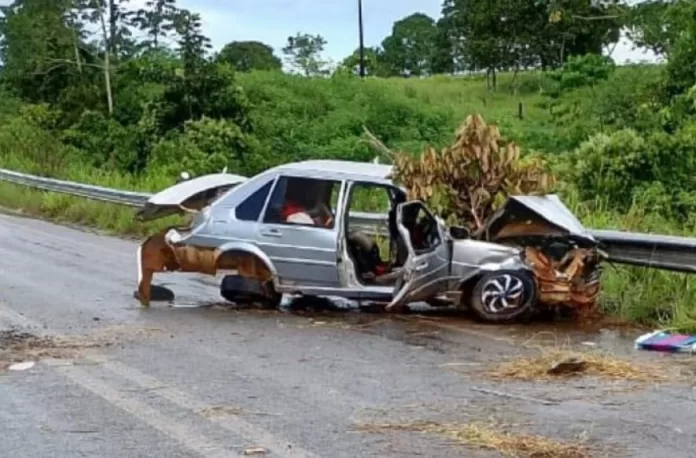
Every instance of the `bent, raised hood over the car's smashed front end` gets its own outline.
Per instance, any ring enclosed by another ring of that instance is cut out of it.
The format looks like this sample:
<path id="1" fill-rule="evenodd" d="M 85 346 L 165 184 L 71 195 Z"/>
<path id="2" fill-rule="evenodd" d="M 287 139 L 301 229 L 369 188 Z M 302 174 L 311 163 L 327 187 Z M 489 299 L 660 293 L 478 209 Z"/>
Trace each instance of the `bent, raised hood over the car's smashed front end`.
<path id="1" fill-rule="evenodd" d="M 488 220 L 480 234 L 494 239 L 506 225 L 522 221 L 539 221 L 566 235 L 595 242 L 592 234 L 555 194 L 545 196 L 511 196 Z M 534 235 L 534 234 L 530 234 Z M 541 235 L 541 234 L 539 234 Z"/>

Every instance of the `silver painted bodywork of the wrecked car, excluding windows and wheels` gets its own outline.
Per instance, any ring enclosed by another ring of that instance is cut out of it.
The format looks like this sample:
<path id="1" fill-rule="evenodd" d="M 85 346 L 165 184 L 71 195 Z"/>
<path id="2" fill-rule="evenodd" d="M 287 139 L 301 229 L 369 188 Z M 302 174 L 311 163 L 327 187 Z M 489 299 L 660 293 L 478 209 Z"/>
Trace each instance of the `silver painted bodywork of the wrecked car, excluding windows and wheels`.
<path id="1" fill-rule="evenodd" d="M 197 185 L 179 184 L 180 192 L 161 194 L 150 199 L 149 213 L 156 207 L 182 204 L 194 195 L 212 188 L 231 186 L 212 203 L 194 216 L 187 231 L 170 231 L 168 240 L 177 245 L 217 248 L 221 252 L 246 252 L 263 261 L 273 277 L 279 293 L 311 296 L 338 296 L 353 300 L 388 301 L 394 307 L 408 302 L 452 293 L 461 285 L 485 271 L 528 269 L 521 251 L 495 243 L 471 239 L 454 240 L 439 218 L 419 201 L 398 204 L 397 228 L 408 249 L 408 257 L 395 284 L 374 285 L 359 281 L 346 243 L 346 208 L 351 190 L 356 184 L 386 187 L 405 196 L 404 190 L 389 177 L 388 165 L 338 160 L 311 160 L 274 167 L 252 178 L 218 177 L 216 180 L 197 180 Z M 219 174 L 225 175 L 225 174 Z M 333 228 L 264 222 L 269 200 L 283 177 L 336 180 L 340 190 L 333 209 Z M 193 181 L 193 180 L 192 180 Z M 268 186 L 265 200 L 259 202 L 259 216 L 253 221 L 237 218 L 236 209 L 256 191 Z M 416 252 L 409 241 L 409 231 L 403 223 L 405 209 L 422 207 L 434 222 L 439 240 L 425 252 Z M 148 208 L 148 206 L 146 206 Z M 147 215 L 144 215 L 147 217 Z"/>

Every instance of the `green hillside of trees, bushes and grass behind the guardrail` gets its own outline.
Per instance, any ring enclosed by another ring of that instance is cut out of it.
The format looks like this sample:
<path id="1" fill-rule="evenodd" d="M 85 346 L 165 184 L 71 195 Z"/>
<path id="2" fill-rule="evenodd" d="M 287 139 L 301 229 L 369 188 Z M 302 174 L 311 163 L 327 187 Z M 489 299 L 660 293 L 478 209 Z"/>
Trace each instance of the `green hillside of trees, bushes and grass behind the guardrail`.
<path id="1" fill-rule="evenodd" d="M 557 191 L 588 227 L 696 235 L 692 1 L 601 10 L 548 2 L 541 15 L 513 2 L 510 20 L 521 28 L 512 36 L 490 27 L 499 15 L 485 0 L 448 0 L 438 21 L 397 21 L 366 53 L 364 79 L 356 55 L 328 68 L 318 35 L 298 34 L 283 49 L 295 74 L 258 42 L 211 54 L 197 15 L 174 0 L 151 3 L 143 11 L 116 0 L 3 8 L 0 167 L 157 191 L 184 170 L 252 175 L 309 158 L 369 161 L 376 152 L 365 128 L 390 148 L 419 153 L 481 114 L 523 155 L 544 155 Z M 577 20 L 592 14 L 613 19 Z M 110 27 L 89 33 L 101 18 Z M 668 25 L 663 34 L 652 32 L 656 18 Z M 619 26 L 667 63 L 614 65 L 601 50 Z M 134 39 L 133 28 L 145 38 Z M 477 46 L 458 41 L 466 36 Z M 568 41 L 555 47 L 553 37 Z M 165 38 L 176 44 L 163 46 Z M 482 73 L 452 75 L 462 70 Z M 8 184 L 0 205 L 119 233 L 152 230 L 129 209 Z M 695 287 L 696 277 L 609 267 L 603 306 L 644 324 L 696 329 Z"/>

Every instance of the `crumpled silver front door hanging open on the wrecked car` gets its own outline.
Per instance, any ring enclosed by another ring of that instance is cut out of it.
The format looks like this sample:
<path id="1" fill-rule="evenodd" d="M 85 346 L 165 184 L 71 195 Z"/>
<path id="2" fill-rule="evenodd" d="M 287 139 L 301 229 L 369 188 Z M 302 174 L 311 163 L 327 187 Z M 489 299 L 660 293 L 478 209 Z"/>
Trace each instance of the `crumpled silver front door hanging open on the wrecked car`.
<path id="1" fill-rule="evenodd" d="M 443 227 L 423 202 L 399 204 L 396 224 L 408 258 L 386 308 L 388 311 L 446 291 L 450 272 L 451 244 Z"/>

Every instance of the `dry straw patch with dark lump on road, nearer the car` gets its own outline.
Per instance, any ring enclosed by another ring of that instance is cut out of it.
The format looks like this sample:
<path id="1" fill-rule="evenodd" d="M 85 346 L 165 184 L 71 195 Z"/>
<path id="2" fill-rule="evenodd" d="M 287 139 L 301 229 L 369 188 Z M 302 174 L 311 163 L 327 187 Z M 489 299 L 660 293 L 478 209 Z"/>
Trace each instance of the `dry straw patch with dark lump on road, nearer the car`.
<path id="1" fill-rule="evenodd" d="M 566 366 L 567 370 L 563 370 Z M 598 351 L 544 349 L 539 355 L 500 363 L 486 375 L 500 380 L 559 380 L 579 375 L 610 380 L 655 382 L 666 378 L 659 364 L 628 361 Z"/>

